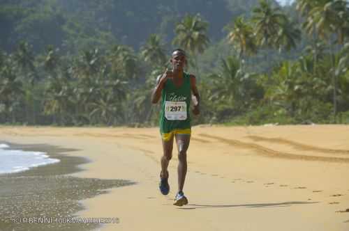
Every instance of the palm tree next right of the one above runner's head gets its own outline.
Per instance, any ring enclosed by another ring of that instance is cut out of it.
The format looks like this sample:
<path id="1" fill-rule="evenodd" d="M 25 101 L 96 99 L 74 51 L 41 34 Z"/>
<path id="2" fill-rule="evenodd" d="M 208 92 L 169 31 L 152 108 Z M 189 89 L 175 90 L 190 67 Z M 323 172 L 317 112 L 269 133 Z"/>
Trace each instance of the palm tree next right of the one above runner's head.
<path id="1" fill-rule="evenodd" d="M 237 17 L 233 26 L 228 26 L 228 42 L 239 47 L 240 66 L 242 67 L 243 59 L 246 54 L 255 54 L 257 45 L 253 35 L 251 24 L 244 22 L 244 17 Z"/>

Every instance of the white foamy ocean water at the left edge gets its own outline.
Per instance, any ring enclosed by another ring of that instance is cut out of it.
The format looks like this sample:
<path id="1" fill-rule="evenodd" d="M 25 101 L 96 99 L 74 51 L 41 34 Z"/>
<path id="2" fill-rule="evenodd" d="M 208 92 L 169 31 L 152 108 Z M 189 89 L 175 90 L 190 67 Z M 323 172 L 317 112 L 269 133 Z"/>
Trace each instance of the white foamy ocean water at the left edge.
<path id="1" fill-rule="evenodd" d="M 57 162 L 59 159 L 52 159 L 45 152 L 11 150 L 9 145 L 0 143 L 0 174 L 18 173 L 29 170 L 29 168 Z"/>

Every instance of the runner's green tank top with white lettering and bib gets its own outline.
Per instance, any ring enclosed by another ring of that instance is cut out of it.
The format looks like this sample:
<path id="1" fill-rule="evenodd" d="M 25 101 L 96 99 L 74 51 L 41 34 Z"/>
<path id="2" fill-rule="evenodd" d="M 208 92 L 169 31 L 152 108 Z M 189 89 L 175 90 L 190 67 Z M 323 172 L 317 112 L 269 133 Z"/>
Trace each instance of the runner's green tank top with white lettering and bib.
<path id="1" fill-rule="evenodd" d="M 162 90 L 160 132 L 168 133 L 174 129 L 190 129 L 191 76 L 184 72 L 184 81 L 176 87 L 172 79 L 165 82 Z"/>

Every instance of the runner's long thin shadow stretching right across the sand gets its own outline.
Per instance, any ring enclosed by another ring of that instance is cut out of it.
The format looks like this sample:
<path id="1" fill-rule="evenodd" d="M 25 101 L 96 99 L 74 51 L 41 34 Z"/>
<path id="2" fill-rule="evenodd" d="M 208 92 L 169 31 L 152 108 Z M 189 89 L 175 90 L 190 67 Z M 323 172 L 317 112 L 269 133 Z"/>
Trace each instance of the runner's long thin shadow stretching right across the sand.
<path id="1" fill-rule="evenodd" d="M 188 204 L 186 207 L 179 207 L 179 209 L 209 209 L 209 208 L 230 208 L 230 207 L 250 207 L 250 208 L 262 208 L 262 207 L 288 207 L 291 205 L 306 205 L 315 204 L 318 202 L 305 202 L 305 201 L 289 201 L 280 203 L 264 203 L 264 204 L 242 204 L 242 205 L 198 205 Z"/>

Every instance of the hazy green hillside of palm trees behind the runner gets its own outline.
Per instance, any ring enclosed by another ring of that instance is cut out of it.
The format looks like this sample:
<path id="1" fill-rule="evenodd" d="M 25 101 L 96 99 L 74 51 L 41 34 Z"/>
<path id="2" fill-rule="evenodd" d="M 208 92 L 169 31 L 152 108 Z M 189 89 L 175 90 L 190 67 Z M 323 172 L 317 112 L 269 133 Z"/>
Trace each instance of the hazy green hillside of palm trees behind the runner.
<path id="1" fill-rule="evenodd" d="M 154 126 L 180 47 L 194 124 L 349 123 L 345 0 L 0 1 L 0 123 Z"/>

